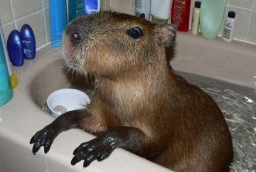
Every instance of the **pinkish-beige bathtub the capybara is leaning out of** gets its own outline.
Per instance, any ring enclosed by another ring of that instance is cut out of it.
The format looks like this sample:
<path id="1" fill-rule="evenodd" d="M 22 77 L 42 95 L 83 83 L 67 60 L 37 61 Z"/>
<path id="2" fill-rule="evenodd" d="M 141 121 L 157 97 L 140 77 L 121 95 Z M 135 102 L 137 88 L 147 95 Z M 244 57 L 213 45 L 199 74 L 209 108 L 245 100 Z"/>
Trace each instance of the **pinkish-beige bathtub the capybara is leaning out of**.
<path id="1" fill-rule="evenodd" d="M 256 46 L 241 42 L 207 40 L 190 33 L 178 33 L 170 63 L 175 70 L 204 75 L 255 89 Z M 117 148 L 102 162 L 88 168 L 82 162 L 72 166 L 73 150 L 94 136 L 78 129 L 58 135 L 51 150 L 32 154 L 31 136 L 54 118 L 41 105 L 53 90 L 67 88 L 70 81 L 61 68 L 60 49 L 38 50 L 36 58 L 13 67 L 18 76 L 14 97 L 0 107 L 0 170 L 12 171 L 171 171 Z"/>

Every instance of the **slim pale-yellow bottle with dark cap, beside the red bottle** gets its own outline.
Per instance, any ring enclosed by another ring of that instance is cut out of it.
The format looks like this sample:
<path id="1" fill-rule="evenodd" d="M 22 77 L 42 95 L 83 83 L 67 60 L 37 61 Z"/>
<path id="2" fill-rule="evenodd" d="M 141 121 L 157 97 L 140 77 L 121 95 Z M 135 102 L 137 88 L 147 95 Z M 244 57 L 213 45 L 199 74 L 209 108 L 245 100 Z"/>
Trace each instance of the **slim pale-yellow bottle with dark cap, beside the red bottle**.
<path id="1" fill-rule="evenodd" d="M 196 1 L 193 9 L 193 17 L 192 17 L 192 24 L 191 24 L 192 34 L 198 34 L 199 20 L 200 20 L 200 7 L 201 7 L 201 2 Z"/>

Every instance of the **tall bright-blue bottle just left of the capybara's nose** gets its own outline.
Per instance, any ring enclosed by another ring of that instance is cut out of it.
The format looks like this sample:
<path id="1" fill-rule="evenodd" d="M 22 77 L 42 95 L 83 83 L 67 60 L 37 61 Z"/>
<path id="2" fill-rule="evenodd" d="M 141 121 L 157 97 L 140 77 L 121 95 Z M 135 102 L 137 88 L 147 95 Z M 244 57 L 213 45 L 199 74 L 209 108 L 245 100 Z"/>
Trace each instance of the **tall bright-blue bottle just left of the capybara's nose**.
<path id="1" fill-rule="evenodd" d="M 66 0 L 49 0 L 52 47 L 62 44 L 62 32 L 67 26 Z"/>

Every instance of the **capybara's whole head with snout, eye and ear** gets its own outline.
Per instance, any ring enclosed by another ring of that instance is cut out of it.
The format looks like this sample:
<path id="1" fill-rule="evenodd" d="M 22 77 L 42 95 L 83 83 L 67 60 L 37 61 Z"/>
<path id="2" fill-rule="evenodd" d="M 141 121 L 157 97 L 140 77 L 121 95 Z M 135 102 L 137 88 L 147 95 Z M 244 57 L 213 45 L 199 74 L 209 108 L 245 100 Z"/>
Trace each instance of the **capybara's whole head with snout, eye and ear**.
<path id="1" fill-rule="evenodd" d="M 173 24 L 157 26 L 142 17 L 100 12 L 74 19 L 63 32 L 66 65 L 78 72 L 117 77 L 165 57 L 175 41 Z"/>

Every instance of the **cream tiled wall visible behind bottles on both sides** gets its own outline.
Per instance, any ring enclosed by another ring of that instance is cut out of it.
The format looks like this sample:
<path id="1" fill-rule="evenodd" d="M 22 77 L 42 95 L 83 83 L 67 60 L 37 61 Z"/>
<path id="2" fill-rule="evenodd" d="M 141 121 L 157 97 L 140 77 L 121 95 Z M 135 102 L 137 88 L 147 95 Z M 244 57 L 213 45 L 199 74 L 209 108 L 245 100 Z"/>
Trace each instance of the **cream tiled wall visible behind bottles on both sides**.
<path id="1" fill-rule="evenodd" d="M 0 19 L 6 40 L 13 29 L 19 30 L 24 23 L 28 23 L 35 33 L 37 47 L 50 42 L 48 1 L 1 0 Z M 191 9 L 195 1 L 191 0 Z M 227 0 L 225 16 L 227 16 L 228 11 L 237 13 L 234 38 L 256 44 L 256 0 Z M 219 34 L 222 34 L 222 28 Z"/>

